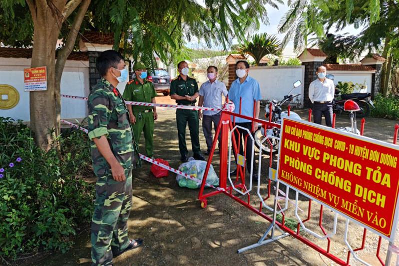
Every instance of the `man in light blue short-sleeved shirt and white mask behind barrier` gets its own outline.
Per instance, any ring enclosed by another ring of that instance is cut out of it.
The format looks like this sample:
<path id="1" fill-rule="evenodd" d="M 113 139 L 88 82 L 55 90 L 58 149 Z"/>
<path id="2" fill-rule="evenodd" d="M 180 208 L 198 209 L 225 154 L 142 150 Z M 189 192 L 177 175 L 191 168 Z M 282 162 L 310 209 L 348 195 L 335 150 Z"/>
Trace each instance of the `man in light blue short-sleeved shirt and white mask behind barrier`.
<path id="1" fill-rule="evenodd" d="M 240 60 L 236 63 L 236 74 L 238 78 L 233 81 L 229 90 L 229 100 L 235 105 L 235 113 L 240 113 L 240 98 L 241 98 L 241 114 L 245 116 L 259 117 L 259 101 L 261 100 L 261 90 L 258 81 L 248 76 L 249 64 L 247 61 Z M 254 110 L 255 102 L 255 110 Z M 252 121 L 240 117 L 235 118 L 235 125 L 241 126 L 252 132 Z M 254 122 L 254 130 L 258 128 L 258 123 Z M 235 134 L 236 141 L 240 138 L 241 147 L 240 154 L 244 155 L 242 143 L 245 141 L 245 136 L 248 135 L 248 131 L 242 128 L 238 128 L 239 134 Z M 247 145 L 245 147 L 246 152 L 246 168 L 251 173 L 251 162 L 252 162 L 252 139 L 247 138 Z M 255 169 L 255 162 L 254 162 Z M 236 171 L 233 171 L 231 175 L 235 175 Z M 258 179 L 256 174 L 253 174 L 255 180 Z"/>

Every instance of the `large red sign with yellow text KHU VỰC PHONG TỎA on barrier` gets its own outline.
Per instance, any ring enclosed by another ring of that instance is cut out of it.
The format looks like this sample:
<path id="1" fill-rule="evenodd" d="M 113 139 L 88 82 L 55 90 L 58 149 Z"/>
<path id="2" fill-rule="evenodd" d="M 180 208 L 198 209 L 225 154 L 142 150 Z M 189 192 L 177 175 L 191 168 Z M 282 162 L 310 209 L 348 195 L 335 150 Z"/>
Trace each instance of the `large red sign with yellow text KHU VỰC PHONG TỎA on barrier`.
<path id="1" fill-rule="evenodd" d="M 284 119 L 278 178 L 391 239 L 397 225 L 399 148 L 382 141 Z"/>

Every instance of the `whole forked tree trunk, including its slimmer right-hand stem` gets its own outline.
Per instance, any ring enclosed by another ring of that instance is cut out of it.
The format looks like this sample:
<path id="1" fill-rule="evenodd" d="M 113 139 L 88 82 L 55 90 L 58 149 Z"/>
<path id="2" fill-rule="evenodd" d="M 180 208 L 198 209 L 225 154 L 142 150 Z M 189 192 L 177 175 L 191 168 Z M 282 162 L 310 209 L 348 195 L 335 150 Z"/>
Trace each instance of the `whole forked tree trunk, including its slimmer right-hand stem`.
<path id="1" fill-rule="evenodd" d="M 47 90 L 30 92 L 30 127 L 34 132 L 35 143 L 48 151 L 60 134 L 62 71 L 75 44 L 90 0 L 26 2 L 34 25 L 31 67 L 47 67 Z M 55 48 L 62 24 L 79 5 L 66 44 L 60 50 L 56 62 Z M 59 149 L 58 145 L 57 148 Z"/>

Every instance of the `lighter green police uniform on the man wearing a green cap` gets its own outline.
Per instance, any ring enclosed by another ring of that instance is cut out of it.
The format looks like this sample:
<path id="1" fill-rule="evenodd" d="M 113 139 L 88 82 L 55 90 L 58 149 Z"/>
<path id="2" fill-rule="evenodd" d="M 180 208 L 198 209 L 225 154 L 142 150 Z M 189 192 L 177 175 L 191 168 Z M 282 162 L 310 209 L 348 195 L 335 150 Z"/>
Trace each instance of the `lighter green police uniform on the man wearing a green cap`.
<path id="1" fill-rule="evenodd" d="M 156 91 L 152 82 L 144 80 L 143 84 L 137 78 L 129 81 L 123 92 L 123 98 L 127 101 L 151 102 L 156 96 Z M 140 142 L 141 132 L 144 133 L 145 151 L 148 157 L 153 153 L 153 133 L 154 133 L 154 114 L 151 106 L 132 105 L 133 115 L 136 117 L 136 123 L 132 125 L 134 139 Z"/>

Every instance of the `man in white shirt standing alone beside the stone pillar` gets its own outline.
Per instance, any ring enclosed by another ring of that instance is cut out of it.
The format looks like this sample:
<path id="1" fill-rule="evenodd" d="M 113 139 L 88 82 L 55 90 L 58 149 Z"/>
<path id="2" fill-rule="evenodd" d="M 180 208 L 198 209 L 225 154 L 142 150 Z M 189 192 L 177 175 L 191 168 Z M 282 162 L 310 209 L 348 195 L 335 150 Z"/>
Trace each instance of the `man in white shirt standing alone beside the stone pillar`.
<path id="1" fill-rule="evenodd" d="M 309 85 L 309 99 L 313 103 L 313 122 L 322 124 L 322 115 L 326 118 L 326 125 L 333 126 L 333 99 L 335 92 L 334 81 L 326 78 L 327 69 L 319 66 L 316 71 L 318 79 Z"/>

